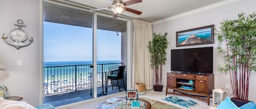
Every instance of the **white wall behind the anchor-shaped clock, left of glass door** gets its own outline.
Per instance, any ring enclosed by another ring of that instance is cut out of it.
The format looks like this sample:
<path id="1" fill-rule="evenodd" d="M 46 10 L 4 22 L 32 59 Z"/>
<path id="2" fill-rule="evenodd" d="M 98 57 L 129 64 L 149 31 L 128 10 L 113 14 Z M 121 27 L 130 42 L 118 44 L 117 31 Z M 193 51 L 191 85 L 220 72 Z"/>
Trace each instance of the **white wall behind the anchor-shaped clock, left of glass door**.
<path id="1" fill-rule="evenodd" d="M 9 95 L 22 95 L 32 105 L 39 104 L 39 0 L 1 0 L 0 35 L 9 35 L 17 28 L 13 23 L 23 20 L 29 37 L 33 37 L 31 46 L 17 50 L 0 39 L 0 61 L 7 67 L 0 71 L 0 85 L 9 88 Z M 22 66 L 16 61 L 22 60 Z"/>

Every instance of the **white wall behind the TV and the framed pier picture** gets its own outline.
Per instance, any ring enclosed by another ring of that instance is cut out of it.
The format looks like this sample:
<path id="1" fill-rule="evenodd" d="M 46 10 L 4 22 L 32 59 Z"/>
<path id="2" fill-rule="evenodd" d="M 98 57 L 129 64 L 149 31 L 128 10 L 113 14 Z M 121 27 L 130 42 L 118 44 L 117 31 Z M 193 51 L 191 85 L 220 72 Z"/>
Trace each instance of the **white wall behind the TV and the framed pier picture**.
<path id="1" fill-rule="evenodd" d="M 215 87 L 225 87 L 225 84 L 230 85 L 230 79 L 228 74 L 220 73 L 217 69 L 218 65 L 223 64 L 222 56 L 216 51 L 216 47 L 221 46 L 215 39 L 215 44 L 207 44 L 203 46 L 189 46 L 189 47 L 178 47 L 176 48 L 176 31 L 192 29 L 197 27 L 203 27 L 206 25 L 215 24 L 215 28 L 219 28 L 219 23 L 223 20 L 233 20 L 237 18 L 240 12 L 245 12 L 246 14 L 252 14 L 256 12 L 256 1 L 255 0 L 242 0 L 233 4 L 228 4 L 223 7 L 218 7 L 215 9 L 210 9 L 195 13 L 192 15 L 183 16 L 181 18 L 176 18 L 171 21 L 164 21 L 161 23 L 153 23 L 153 31 L 156 33 L 168 33 L 169 47 L 167 49 L 167 61 L 166 65 L 163 67 L 163 85 L 166 86 L 166 72 L 170 72 L 170 49 L 183 49 L 183 48 L 198 48 L 198 47 L 213 47 L 215 50 L 213 52 L 213 72 L 215 74 Z M 256 73 L 251 75 L 250 85 L 249 85 L 249 100 L 256 102 Z M 231 86 L 230 86 L 231 89 Z M 229 94 L 230 91 L 229 91 Z"/>

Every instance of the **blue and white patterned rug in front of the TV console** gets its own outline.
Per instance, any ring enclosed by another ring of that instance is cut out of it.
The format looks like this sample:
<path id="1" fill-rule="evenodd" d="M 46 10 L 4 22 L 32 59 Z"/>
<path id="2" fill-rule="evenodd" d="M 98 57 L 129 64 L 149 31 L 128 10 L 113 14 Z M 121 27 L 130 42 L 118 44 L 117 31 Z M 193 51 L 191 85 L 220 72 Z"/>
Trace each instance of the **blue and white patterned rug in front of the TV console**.
<path id="1" fill-rule="evenodd" d="M 183 100 L 183 99 L 175 97 L 175 96 L 166 97 L 163 100 L 169 101 L 174 104 L 178 104 L 180 106 L 187 107 L 187 108 L 197 105 L 197 102 L 195 102 L 193 100 Z"/>

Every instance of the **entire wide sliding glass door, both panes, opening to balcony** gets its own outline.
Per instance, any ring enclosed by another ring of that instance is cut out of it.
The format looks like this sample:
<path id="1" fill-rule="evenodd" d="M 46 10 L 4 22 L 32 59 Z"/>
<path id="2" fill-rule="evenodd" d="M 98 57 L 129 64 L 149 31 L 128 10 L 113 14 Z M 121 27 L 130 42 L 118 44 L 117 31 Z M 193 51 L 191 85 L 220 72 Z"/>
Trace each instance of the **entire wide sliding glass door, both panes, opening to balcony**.
<path id="1" fill-rule="evenodd" d="M 46 2 L 43 10 L 44 104 L 126 91 L 127 21 Z"/>

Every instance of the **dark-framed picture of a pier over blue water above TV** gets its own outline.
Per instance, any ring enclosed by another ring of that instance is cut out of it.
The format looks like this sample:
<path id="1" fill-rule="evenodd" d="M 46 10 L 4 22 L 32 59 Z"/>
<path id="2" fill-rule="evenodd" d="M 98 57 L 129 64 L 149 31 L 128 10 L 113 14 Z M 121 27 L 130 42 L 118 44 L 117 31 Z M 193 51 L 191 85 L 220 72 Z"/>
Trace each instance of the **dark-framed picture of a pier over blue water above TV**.
<path id="1" fill-rule="evenodd" d="M 214 43 L 214 25 L 176 32 L 176 47 Z"/>

